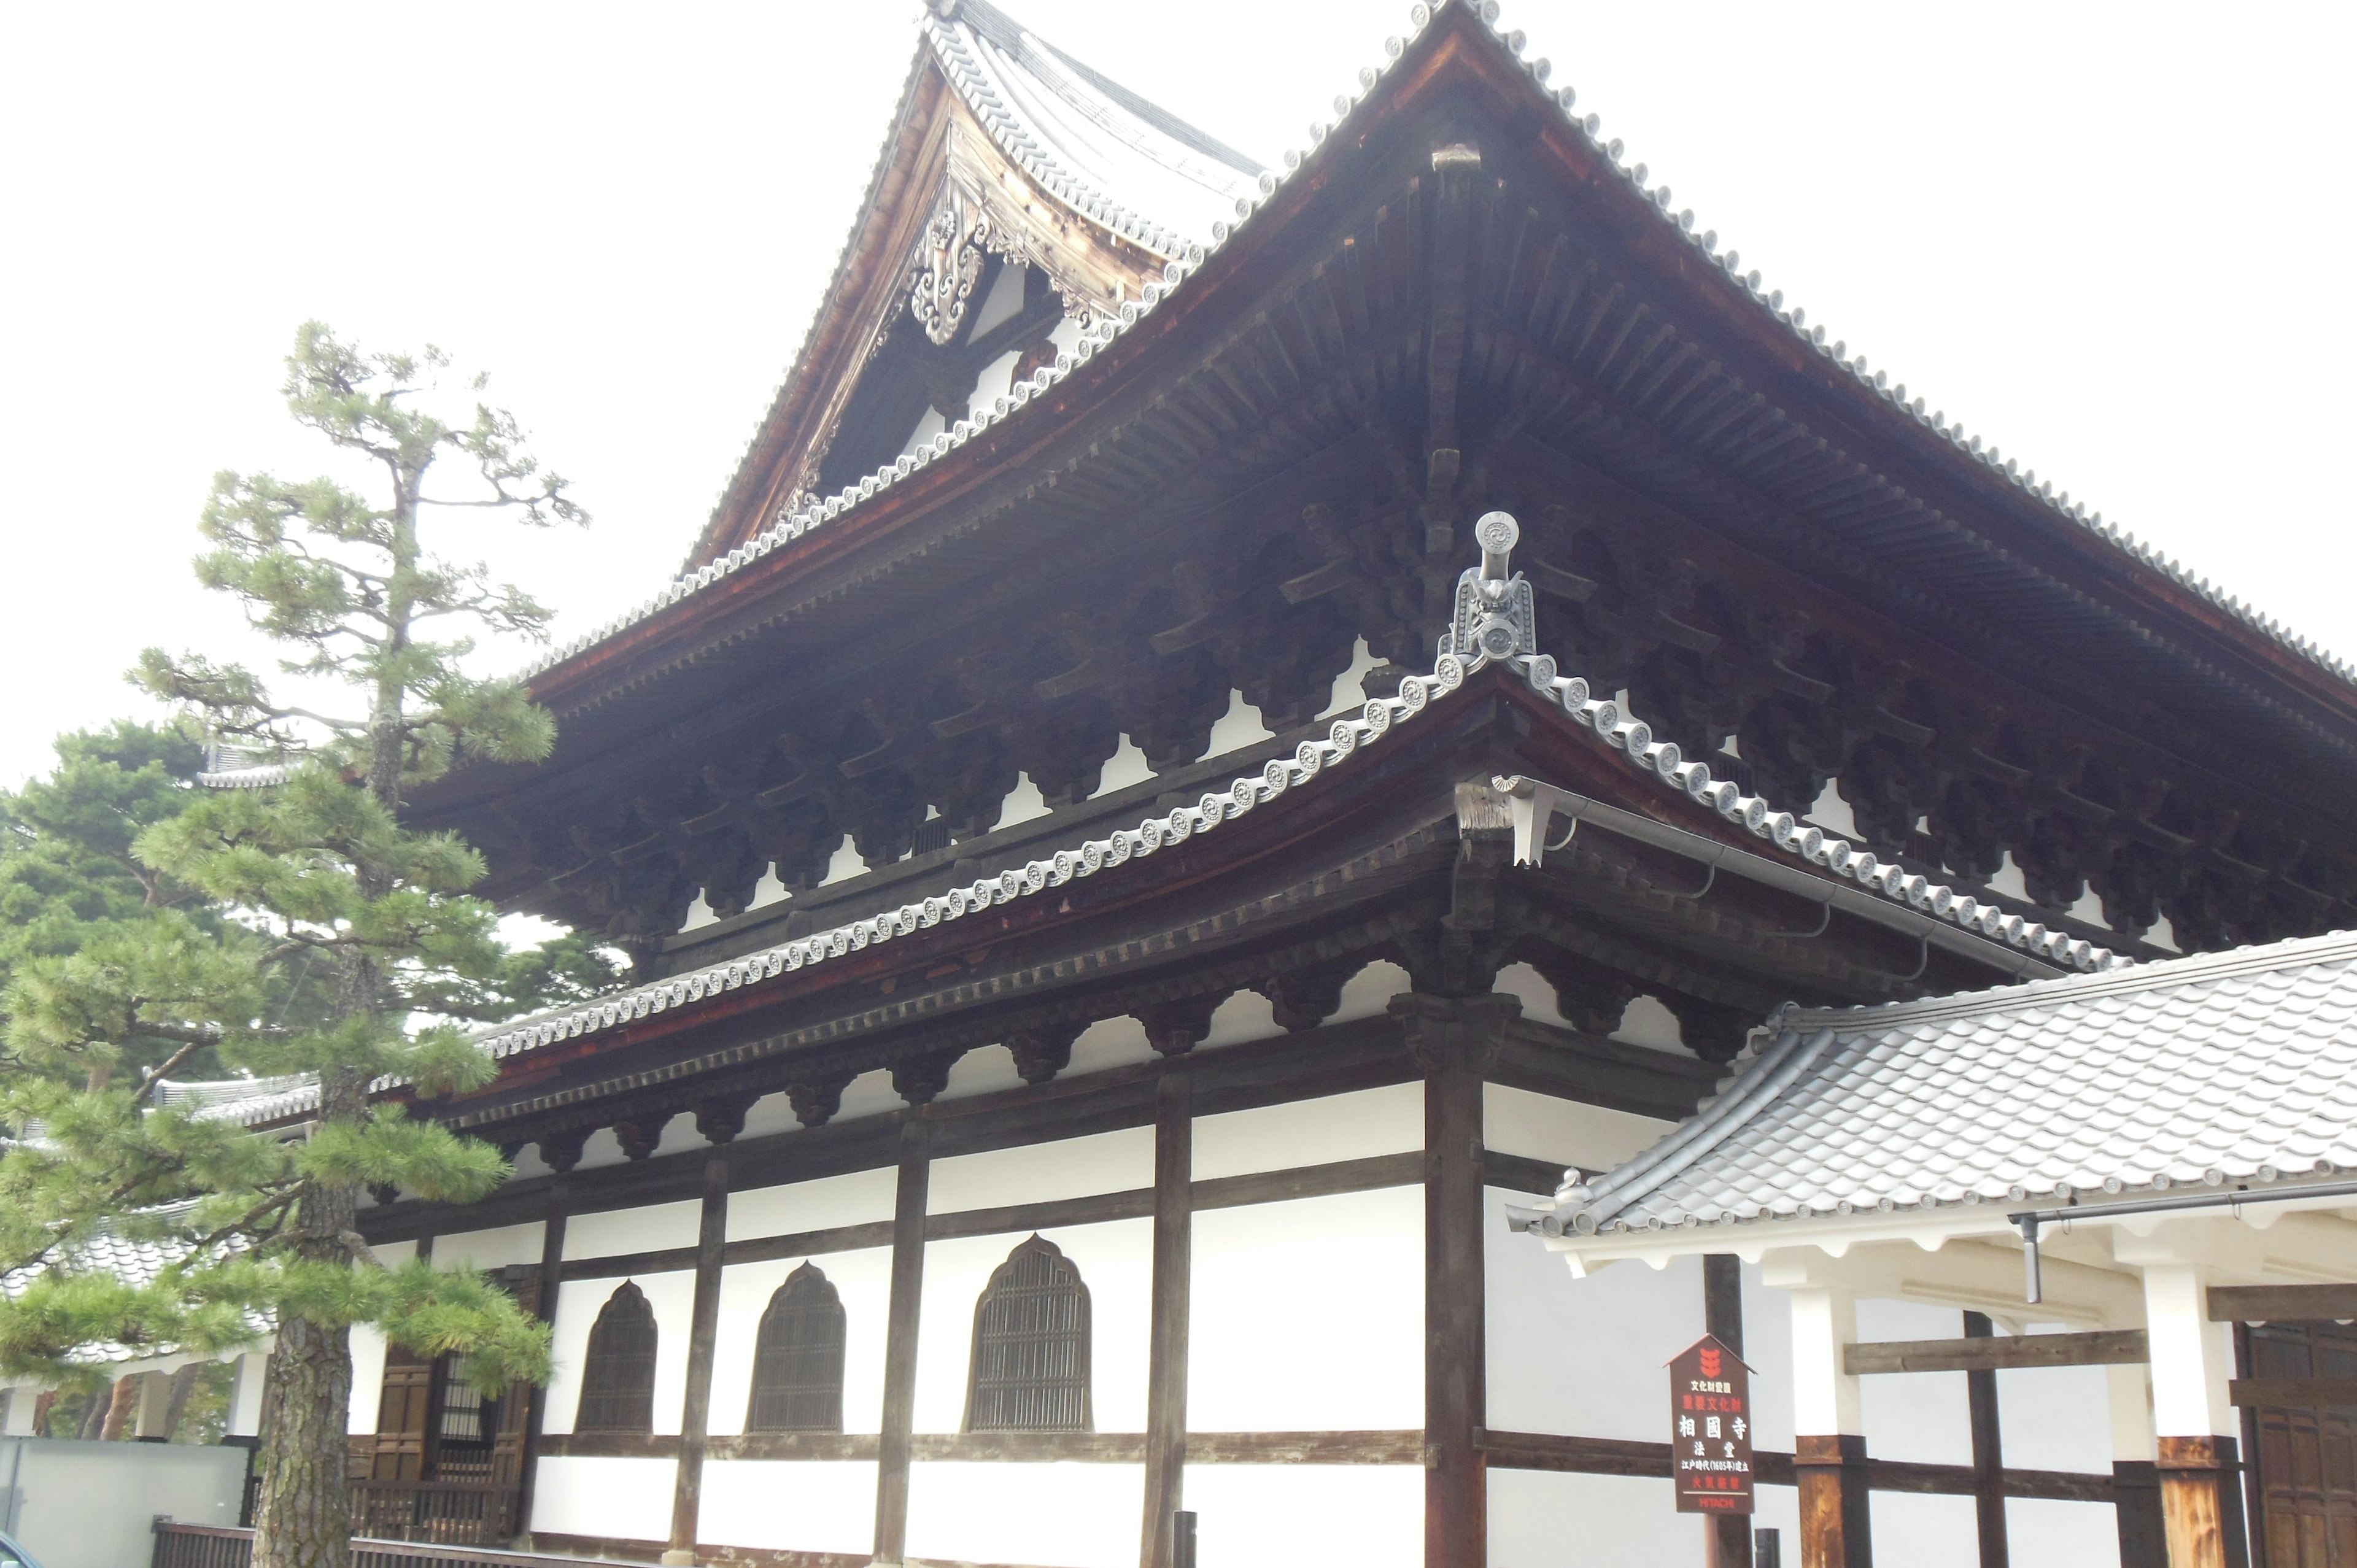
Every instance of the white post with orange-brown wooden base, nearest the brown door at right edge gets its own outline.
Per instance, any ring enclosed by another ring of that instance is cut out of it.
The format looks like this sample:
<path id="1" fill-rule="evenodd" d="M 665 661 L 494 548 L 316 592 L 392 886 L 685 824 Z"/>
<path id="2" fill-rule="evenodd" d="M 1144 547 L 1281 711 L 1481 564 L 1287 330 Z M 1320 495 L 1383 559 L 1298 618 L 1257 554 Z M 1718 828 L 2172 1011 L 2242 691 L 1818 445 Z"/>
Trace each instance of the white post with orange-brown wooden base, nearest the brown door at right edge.
<path id="1" fill-rule="evenodd" d="M 2168 1568 L 2249 1568 L 2234 1441 L 2234 1330 L 2209 1320 L 2199 1264 L 2145 1264 L 2152 1427 Z"/>

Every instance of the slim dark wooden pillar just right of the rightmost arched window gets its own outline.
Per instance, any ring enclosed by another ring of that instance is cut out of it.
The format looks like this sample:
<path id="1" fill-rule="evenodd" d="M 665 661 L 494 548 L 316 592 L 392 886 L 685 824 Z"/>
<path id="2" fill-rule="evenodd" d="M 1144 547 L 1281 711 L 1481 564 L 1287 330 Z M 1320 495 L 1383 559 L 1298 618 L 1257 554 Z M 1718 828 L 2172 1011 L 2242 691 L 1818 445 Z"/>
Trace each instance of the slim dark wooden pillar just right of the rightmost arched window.
<path id="1" fill-rule="evenodd" d="M 1171 1516 L 1186 1507 L 1186 1346 L 1193 1302 L 1193 1073 L 1155 1085 L 1155 1283 L 1146 1365 L 1146 1518 L 1138 1563 L 1174 1568 Z"/>

